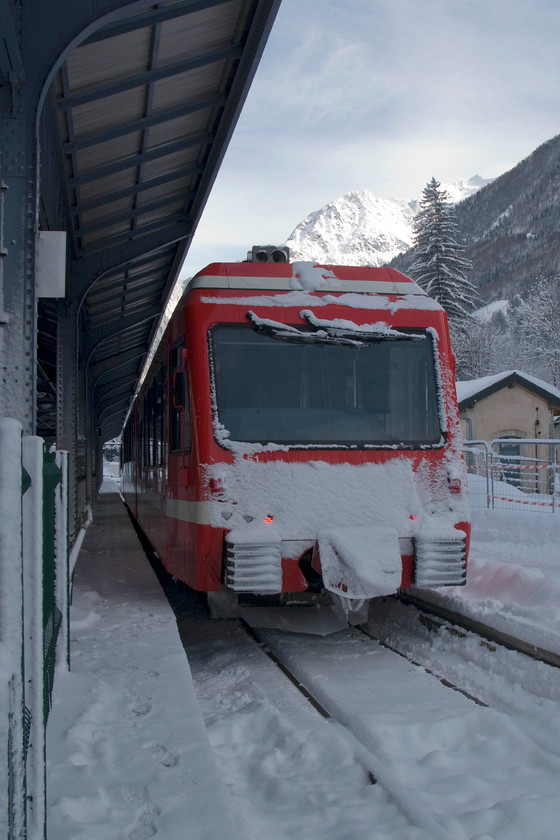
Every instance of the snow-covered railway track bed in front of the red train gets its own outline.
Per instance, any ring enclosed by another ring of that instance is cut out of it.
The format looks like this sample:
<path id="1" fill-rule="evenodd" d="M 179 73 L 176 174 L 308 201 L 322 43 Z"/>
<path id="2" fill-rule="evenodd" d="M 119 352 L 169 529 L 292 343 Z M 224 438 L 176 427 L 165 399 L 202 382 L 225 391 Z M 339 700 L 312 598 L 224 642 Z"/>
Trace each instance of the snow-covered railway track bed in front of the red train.
<path id="1" fill-rule="evenodd" d="M 310 837 L 368 836 L 364 825 L 385 820 L 379 836 L 391 840 L 501 840 L 513 811 L 519 836 L 532 836 L 536 807 L 558 824 L 560 675 L 538 651 L 522 660 L 516 640 L 506 649 L 449 611 L 396 598 L 377 623 L 370 611 L 363 627 L 312 637 L 209 621 L 182 597 L 174 609 L 210 741 L 261 833 L 277 836 L 274 814 L 291 797 L 308 803 L 302 812 L 324 809 Z"/>

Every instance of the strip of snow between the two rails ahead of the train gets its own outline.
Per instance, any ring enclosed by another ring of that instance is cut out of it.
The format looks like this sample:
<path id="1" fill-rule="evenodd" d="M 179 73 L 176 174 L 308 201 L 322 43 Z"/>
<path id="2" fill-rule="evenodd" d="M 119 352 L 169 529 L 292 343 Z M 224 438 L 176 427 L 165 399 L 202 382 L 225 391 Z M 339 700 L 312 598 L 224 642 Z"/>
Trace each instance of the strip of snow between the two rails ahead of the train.
<path id="1" fill-rule="evenodd" d="M 395 635 L 400 648 L 398 630 Z M 417 827 L 416 838 L 554 836 L 557 732 L 544 729 L 535 739 L 509 713 L 476 705 L 392 650 L 348 631 L 321 640 L 319 653 L 309 636 L 269 631 L 266 639 L 370 751 L 374 775 Z M 486 649 L 486 667 L 492 666 Z M 530 700 L 526 710 L 536 705 Z M 539 832 L 533 833 L 537 814 Z"/>

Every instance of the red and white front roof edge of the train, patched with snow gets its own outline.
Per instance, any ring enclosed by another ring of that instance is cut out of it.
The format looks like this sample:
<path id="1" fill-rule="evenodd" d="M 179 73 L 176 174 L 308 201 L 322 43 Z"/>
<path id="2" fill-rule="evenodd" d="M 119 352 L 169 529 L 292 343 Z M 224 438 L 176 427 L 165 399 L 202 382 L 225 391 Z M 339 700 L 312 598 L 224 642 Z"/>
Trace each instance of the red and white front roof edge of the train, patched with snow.
<path id="1" fill-rule="evenodd" d="M 261 295 L 255 298 L 254 304 L 261 306 L 337 303 L 357 309 L 441 309 L 440 304 L 428 297 L 414 280 L 393 268 L 319 265 L 311 262 L 212 263 L 193 277 L 188 288 L 189 291 L 228 289 L 282 292 L 281 295 Z M 326 294 L 317 298 L 318 292 Z M 339 293 L 341 296 L 333 298 L 329 293 Z M 397 296 L 399 301 L 391 301 L 389 296 Z M 203 302 L 246 305 L 250 299 L 246 294 L 239 298 L 223 299 L 213 296 L 211 299 L 203 298 Z"/>

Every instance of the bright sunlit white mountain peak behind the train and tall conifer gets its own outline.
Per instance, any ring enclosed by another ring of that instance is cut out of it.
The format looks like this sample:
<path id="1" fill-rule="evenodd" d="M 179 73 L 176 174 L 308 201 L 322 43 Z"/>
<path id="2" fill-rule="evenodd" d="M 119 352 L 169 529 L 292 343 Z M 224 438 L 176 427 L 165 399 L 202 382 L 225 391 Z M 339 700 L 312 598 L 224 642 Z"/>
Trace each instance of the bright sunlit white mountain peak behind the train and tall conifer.
<path id="1" fill-rule="evenodd" d="M 462 201 L 489 181 L 443 184 L 453 202 Z M 334 265 L 386 265 L 412 247 L 412 225 L 419 202 L 378 198 L 369 190 L 347 193 L 316 210 L 286 241 L 293 260 Z"/>

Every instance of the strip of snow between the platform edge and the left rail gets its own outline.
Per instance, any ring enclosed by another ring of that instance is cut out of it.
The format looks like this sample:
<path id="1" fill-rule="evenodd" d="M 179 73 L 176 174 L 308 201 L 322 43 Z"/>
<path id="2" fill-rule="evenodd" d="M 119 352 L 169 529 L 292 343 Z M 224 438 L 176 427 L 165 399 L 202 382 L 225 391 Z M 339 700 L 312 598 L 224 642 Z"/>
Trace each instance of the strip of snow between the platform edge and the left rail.
<path id="1" fill-rule="evenodd" d="M 187 620 L 181 633 L 237 816 L 236 840 L 424 838 L 372 785 L 344 730 L 324 720 L 236 622 Z"/>

